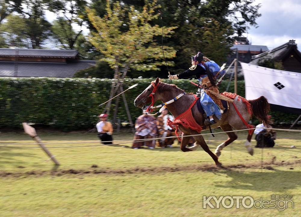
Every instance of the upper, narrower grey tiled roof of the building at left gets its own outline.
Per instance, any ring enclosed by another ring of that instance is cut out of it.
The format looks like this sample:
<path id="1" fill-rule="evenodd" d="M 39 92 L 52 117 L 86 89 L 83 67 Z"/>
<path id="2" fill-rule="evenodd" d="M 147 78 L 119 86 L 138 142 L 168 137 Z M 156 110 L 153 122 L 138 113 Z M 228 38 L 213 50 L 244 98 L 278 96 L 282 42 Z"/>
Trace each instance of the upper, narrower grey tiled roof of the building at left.
<path id="1" fill-rule="evenodd" d="M 48 49 L 12 49 L 0 48 L 0 57 L 60 57 L 76 58 L 76 50 L 48 50 Z"/>

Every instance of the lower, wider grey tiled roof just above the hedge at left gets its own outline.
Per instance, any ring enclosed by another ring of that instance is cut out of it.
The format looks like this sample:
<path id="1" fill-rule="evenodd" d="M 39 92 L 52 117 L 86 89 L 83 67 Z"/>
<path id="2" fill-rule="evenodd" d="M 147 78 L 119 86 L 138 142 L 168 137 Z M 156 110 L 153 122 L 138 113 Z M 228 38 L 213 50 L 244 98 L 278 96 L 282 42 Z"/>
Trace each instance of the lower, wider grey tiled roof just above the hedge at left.
<path id="1" fill-rule="evenodd" d="M 0 76 L 16 77 L 73 77 L 78 70 L 96 64 L 94 60 L 78 60 L 67 63 L 0 62 Z M 17 72 L 15 72 L 17 70 Z"/>

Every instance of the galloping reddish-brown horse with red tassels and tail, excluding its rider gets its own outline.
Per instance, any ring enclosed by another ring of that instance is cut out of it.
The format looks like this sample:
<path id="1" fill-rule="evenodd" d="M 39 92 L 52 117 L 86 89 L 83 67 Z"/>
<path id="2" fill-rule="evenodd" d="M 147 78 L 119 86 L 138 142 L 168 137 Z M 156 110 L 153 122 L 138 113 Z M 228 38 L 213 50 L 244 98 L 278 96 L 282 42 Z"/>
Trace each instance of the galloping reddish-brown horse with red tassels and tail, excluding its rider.
<path id="1" fill-rule="evenodd" d="M 221 163 L 218 161 L 221 150 L 237 139 L 237 135 L 232 131 L 232 127 L 236 130 L 249 129 L 245 147 L 247 148 L 247 151 L 253 155 L 253 148 L 251 147 L 250 141 L 255 126 L 250 125 L 247 122 L 253 114 L 262 121 L 265 126 L 269 126 L 270 124 L 270 120 L 267 116 L 269 104 L 265 97 L 261 96 L 255 100 L 246 100 L 243 97 L 228 92 L 224 92 L 223 95 L 230 98 L 233 103 L 229 103 L 228 106 L 226 106 L 228 110 L 225 110 L 222 118 L 220 120 L 217 119 L 217 123 L 213 125 L 213 127 L 220 126 L 228 135 L 228 139 L 216 148 L 215 154 L 209 150 L 203 136 L 200 135 L 201 130 L 204 129 L 204 117 L 203 113 L 199 110 L 199 98 L 197 95 L 185 93 L 176 85 L 160 82 L 159 78 L 157 78 L 135 99 L 134 105 L 140 108 L 143 108 L 149 103 L 151 103 L 151 107 L 153 108 L 158 108 L 163 105 L 166 106 L 175 117 L 173 121 L 168 120 L 166 124 L 175 128 L 175 134 L 178 136 L 179 140 L 180 137 L 177 129 L 180 129 L 180 131 L 183 132 L 181 150 L 184 152 L 193 151 L 200 145 L 212 157 L 216 166 L 221 166 Z M 153 106 L 154 102 L 158 100 L 162 101 L 163 104 Z M 186 144 L 188 144 L 188 140 L 190 139 L 189 135 L 193 135 L 196 140 L 192 147 L 186 147 Z"/>

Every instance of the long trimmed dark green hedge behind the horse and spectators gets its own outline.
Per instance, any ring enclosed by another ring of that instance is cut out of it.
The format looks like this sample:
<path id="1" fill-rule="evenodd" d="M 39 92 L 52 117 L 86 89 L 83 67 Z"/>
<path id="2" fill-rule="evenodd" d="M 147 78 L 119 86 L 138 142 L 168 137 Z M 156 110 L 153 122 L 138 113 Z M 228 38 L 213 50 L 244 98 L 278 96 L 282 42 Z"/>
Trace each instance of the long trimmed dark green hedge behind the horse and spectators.
<path id="1" fill-rule="evenodd" d="M 124 89 L 139 83 L 136 88 L 125 92 L 133 121 L 141 115 L 141 109 L 135 107 L 133 102 L 152 80 L 124 80 Z M 196 91 L 189 80 L 173 80 L 173 83 L 186 92 Z M 21 128 L 22 122 L 29 122 L 64 131 L 91 129 L 103 110 L 98 105 L 109 97 L 111 84 L 111 79 L 0 78 L 0 128 Z M 222 82 L 219 86 L 221 92 L 225 91 L 227 84 L 227 81 Z M 237 87 L 238 94 L 244 96 L 244 81 L 238 81 Z M 233 82 L 228 91 L 234 91 Z M 114 103 L 109 119 L 112 119 Z M 275 121 L 290 123 L 295 117 L 297 115 L 278 113 Z M 119 104 L 118 118 L 127 120 L 123 101 Z"/>

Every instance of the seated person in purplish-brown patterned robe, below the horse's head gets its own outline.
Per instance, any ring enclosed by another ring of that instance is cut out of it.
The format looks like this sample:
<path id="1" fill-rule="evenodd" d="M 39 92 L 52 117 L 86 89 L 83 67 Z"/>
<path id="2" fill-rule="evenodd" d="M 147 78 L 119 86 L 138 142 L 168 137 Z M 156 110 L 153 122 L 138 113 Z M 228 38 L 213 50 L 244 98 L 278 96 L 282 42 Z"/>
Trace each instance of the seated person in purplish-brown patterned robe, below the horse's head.
<path id="1" fill-rule="evenodd" d="M 143 110 L 145 111 L 146 108 Z M 136 141 L 137 139 L 151 139 L 155 138 L 157 133 L 157 123 L 154 116 L 149 116 L 142 114 L 135 122 L 135 136 L 132 145 L 133 149 L 141 148 L 142 146 L 147 146 L 151 149 L 155 147 L 155 140 L 150 141 Z"/>

